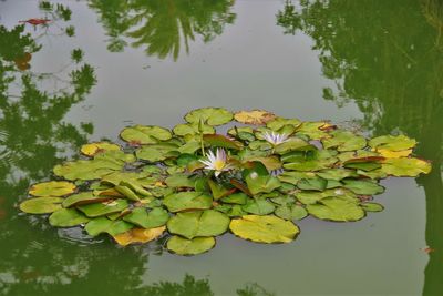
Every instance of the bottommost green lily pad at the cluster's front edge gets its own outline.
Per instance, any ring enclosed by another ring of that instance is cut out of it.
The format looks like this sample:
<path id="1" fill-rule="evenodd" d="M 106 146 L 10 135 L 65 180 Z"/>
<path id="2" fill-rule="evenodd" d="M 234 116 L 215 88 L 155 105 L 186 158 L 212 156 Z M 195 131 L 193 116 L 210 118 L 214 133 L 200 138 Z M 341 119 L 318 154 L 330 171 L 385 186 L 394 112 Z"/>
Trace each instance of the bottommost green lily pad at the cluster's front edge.
<path id="1" fill-rule="evenodd" d="M 197 255 L 208 252 L 214 246 L 214 237 L 195 237 L 193 239 L 186 239 L 174 235 L 166 243 L 167 249 L 177 255 Z"/>

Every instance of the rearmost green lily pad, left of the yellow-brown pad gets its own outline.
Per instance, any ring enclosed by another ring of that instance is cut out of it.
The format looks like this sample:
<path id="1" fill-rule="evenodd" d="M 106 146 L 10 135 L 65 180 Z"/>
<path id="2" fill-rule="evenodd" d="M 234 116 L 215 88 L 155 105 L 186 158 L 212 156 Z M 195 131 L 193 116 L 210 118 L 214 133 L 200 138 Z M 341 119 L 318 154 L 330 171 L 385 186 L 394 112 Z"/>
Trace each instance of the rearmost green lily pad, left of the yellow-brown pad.
<path id="1" fill-rule="evenodd" d="M 190 111 L 185 115 L 189 123 L 206 123 L 212 126 L 223 125 L 234 119 L 233 113 L 224 108 L 202 108 Z"/>

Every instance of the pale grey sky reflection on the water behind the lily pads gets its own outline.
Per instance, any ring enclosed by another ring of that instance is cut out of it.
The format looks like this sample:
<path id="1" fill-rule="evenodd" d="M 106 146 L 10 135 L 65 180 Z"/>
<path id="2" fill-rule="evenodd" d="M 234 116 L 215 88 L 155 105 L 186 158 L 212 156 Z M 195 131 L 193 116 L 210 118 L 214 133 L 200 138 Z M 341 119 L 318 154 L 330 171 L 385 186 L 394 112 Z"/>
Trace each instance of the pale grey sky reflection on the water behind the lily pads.
<path id="1" fill-rule="evenodd" d="M 9 24 L 17 16 L 27 19 L 37 13 L 30 2 L 6 2 L 1 11 L 4 6 Z M 205 105 L 267 109 L 303 120 L 360 116 L 352 105 L 337 110 L 321 98 L 322 88 L 332 86 L 331 82 L 320 75 L 321 65 L 310 50 L 310 39 L 301 33 L 284 35 L 276 25 L 280 1 L 238 1 L 234 25 L 226 25 L 224 33 L 208 44 L 190 42 L 189 54 L 182 52 L 177 62 L 150 58 L 142 49 L 131 47 L 124 53 L 109 52 L 97 16 L 84 2 L 69 6 L 76 38 L 71 44 L 52 40 L 33 65 L 47 68 L 61 62 L 64 50 L 75 44 L 85 50 L 86 60 L 97 68 L 99 84 L 83 108 L 72 110 L 70 120 L 93 119 L 96 137 L 115 137 L 124 121 L 173 125 L 186 110 Z M 90 105 L 94 108 L 85 112 Z"/>

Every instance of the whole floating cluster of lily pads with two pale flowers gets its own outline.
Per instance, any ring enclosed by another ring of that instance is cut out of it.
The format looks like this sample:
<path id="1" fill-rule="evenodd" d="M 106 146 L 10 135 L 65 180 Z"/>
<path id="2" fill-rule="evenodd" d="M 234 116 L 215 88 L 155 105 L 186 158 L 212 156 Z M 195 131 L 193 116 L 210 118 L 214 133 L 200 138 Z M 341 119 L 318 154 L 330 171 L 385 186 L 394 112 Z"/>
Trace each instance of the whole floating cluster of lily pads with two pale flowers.
<path id="1" fill-rule="evenodd" d="M 383 210 L 372 202 L 384 191 L 380 180 L 431 171 L 405 135 L 367 139 L 262 110 L 204 108 L 185 121 L 125 127 L 123 145 L 83 145 L 80 160 L 53 169 L 54 181 L 31 186 L 20 210 L 122 246 L 168 236 L 167 249 L 194 255 L 228 231 L 289 243 L 307 216 L 359 221 Z"/>

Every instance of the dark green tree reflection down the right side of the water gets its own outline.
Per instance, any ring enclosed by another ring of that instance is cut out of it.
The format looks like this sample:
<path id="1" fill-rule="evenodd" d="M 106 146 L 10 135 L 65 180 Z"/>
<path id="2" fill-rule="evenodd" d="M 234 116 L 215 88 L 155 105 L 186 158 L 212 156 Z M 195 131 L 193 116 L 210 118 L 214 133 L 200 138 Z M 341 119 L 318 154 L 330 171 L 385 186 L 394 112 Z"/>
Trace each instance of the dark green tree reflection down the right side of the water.
<path id="1" fill-rule="evenodd" d="M 443 290 L 443 4 L 436 0 L 301 1 L 277 14 L 286 33 L 310 35 L 323 74 L 339 92 L 324 99 L 352 101 L 373 134 L 404 132 L 420 144 L 418 154 L 433 161 L 433 172 L 418 177 L 426 193 L 430 254 L 425 295 Z M 431 25 L 430 25 L 431 24 Z M 436 30 L 434 30 L 434 27 Z"/>

